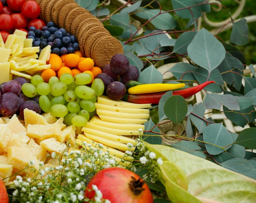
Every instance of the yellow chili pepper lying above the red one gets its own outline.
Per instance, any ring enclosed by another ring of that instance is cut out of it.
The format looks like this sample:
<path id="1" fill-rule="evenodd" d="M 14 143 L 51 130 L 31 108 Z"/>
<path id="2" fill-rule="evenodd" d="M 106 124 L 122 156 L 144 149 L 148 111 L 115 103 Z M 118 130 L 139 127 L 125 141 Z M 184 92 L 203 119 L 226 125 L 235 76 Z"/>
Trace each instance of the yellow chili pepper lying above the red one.
<path id="1" fill-rule="evenodd" d="M 155 93 L 155 92 L 165 92 L 174 89 L 183 88 L 184 83 L 179 84 L 168 84 L 168 83 L 155 83 L 155 84 L 143 84 L 137 85 L 135 87 L 129 88 L 129 94 L 146 94 L 146 93 Z"/>

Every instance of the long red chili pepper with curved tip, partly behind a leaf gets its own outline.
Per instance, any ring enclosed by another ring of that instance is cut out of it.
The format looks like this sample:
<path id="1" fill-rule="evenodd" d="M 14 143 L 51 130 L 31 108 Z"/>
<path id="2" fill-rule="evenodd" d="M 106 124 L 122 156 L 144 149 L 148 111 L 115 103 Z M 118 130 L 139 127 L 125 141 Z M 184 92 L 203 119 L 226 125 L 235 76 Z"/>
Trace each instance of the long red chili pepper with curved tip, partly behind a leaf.
<path id="1" fill-rule="evenodd" d="M 195 87 L 181 89 L 181 90 L 174 90 L 173 95 L 180 95 L 184 97 L 184 99 L 186 99 L 200 92 L 202 89 L 204 89 L 207 85 L 211 83 L 215 83 L 215 82 L 208 81 Z M 135 103 L 135 104 L 158 104 L 159 100 L 165 93 L 167 92 L 150 93 L 150 94 L 126 94 L 124 96 L 124 100 L 131 103 Z"/>

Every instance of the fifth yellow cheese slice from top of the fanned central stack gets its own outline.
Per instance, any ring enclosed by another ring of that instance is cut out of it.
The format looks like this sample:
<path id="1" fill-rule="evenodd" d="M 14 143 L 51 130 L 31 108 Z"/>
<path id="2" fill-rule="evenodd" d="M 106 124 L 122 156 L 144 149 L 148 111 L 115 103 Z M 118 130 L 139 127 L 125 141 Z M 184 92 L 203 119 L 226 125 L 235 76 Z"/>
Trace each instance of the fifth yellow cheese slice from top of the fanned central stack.
<path id="1" fill-rule="evenodd" d="M 93 116 L 90 123 L 95 124 L 95 125 L 100 125 L 103 127 L 120 129 L 120 130 L 139 130 L 139 129 L 145 130 L 144 125 L 113 123 L 113 122 L 101 120 L 98 116 Z"/>

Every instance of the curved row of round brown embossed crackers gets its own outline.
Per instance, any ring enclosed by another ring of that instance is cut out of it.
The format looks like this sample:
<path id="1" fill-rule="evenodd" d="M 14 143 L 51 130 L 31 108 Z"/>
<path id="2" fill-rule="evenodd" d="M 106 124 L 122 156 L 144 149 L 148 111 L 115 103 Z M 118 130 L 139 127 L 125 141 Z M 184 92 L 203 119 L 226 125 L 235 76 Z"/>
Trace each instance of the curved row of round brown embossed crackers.
<path id="1" fill-rule="evenodd" d="M 74 0 L 35 0 L 41 7 L 43 21 L 53 21 L 76 36 L 81 52 L 103 68 L 112 56 L 123 53 L 121 43 L 104 28 L 101 21 Z"/>

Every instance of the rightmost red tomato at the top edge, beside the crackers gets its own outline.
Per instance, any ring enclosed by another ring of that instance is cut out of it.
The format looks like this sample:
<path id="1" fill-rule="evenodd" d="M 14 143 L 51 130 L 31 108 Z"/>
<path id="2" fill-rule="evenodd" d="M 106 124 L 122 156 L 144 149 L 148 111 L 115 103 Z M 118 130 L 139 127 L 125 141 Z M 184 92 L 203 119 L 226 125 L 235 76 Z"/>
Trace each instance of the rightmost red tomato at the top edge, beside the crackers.
<path id="1" fill-rule="evenodd" d="M 29 19 L 36 19 L 40 15 L 40 6 L 35 1 L 26 1 L 21 8 L 22 15 Z"/>

